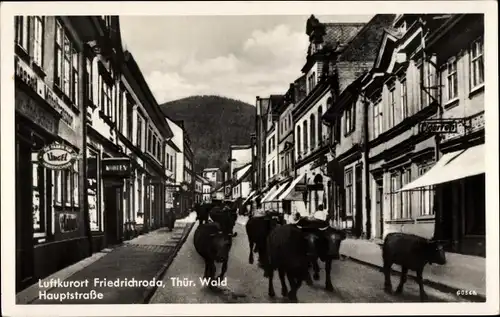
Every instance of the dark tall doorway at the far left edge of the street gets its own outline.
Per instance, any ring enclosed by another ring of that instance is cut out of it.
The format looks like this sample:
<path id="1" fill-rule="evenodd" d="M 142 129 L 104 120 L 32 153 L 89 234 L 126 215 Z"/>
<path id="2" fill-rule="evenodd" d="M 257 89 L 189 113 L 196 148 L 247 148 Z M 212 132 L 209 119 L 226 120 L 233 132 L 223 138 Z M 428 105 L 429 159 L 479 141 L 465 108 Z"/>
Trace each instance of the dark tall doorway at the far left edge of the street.
<path id="1" fill-rule="evenodd" d="M 16 292 L 34 282 L 31 144 L 16 135 Z"/>

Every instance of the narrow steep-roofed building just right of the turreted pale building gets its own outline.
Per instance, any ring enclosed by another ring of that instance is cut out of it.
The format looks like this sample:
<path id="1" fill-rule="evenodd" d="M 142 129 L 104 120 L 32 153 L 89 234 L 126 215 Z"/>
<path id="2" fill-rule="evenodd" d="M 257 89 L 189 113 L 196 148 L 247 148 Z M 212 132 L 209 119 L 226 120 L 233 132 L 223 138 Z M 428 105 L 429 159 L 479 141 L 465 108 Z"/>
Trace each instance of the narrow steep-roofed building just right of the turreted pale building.
<path id="1" fill-rule="evenodd" d="M 366 215 L 367 121 L 360 86 L 377 57 L 384 29 L 392 26 L 394 18 L 392 14 L 375 15 L 349 44 L 337 50 L 334 80 L 339 95 L 323 116 L 332 154 L 330 216 L 335 226 L 358 237 L 369 236 L 371 229 Z"/>

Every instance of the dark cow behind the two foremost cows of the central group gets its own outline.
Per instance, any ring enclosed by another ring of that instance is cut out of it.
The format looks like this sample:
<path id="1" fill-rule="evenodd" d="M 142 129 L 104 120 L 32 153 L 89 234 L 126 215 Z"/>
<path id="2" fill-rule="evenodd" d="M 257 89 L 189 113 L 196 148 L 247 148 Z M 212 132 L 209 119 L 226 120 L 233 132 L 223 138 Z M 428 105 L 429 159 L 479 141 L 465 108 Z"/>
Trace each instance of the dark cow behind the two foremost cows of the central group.
<path id="1" fill-rule="evenodd" d="M 267 236 L 277 226 L 283 225 L 285 222 L 283 215 L 274 211 L 269 212 L 265 216 L 250 218 L 245 225 L 248 245 L 250 247 L 250 255 L 248 263 L 253 264 L 254 252 L 259 253 L 259 264 L 262 267 L 263 261 L 266 259 Z"/>

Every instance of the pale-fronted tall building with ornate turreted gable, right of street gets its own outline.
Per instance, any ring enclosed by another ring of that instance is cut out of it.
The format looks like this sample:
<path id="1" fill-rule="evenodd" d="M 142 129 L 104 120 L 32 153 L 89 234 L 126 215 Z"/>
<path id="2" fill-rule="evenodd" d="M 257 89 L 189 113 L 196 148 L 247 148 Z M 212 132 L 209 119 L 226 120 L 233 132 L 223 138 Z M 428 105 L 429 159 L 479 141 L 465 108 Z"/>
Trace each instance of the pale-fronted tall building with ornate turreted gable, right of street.
<path id="1" fill-rule="evenodd" d="M 292 213 L 310 215 L 329 209 L 327 197 L 330 196 L 331 182 L 327 175 L 327 161 L 330 153 L 328 130 L 321 117 L 338 95 L 338 82 L 333 76 L 337 55 L 363 26 L 363 23 L 321 23 L 314 16 L 307 21 L 306 34 L 310 44 L 302 68 L 307 95 L 292 111 L 296 178 L 291 191 L 302 183 L 303 192 L 293 198 Z"/>

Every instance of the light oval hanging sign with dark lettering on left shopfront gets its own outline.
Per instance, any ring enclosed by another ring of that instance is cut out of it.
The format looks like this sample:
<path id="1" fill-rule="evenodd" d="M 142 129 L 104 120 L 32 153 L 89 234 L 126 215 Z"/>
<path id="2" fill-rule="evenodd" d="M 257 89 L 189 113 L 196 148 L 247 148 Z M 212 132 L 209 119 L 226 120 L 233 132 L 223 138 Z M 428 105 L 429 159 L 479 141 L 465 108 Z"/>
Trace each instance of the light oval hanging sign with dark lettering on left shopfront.
<path id="1" fill-rule="evenodd" d="M 47 145 L 38 153 L 38 161 L 52 170 L 70 168 L 76 158 L 77 155 L 72 148 L 58 143 Z"/>

